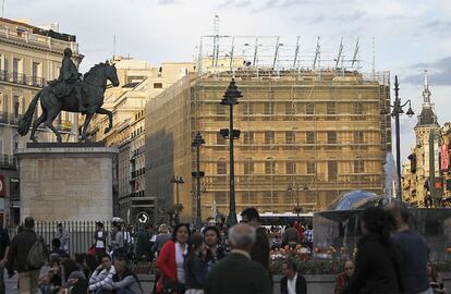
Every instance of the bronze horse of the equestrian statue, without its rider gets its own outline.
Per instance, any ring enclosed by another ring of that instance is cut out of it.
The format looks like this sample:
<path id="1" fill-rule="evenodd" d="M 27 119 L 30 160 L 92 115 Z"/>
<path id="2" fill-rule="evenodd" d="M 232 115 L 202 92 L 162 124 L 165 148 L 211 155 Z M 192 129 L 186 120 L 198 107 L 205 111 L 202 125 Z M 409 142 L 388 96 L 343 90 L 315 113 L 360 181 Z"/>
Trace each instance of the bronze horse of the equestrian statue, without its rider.
<path id="1" fill-rule="evenodd" d="M 109 62 L 107 61 L 106 63 L 99 63 L 94 65 L 84 75 L 83 81 L 81 81 L 77 85 L 77 87 L 81 87 L 82 89 L 81 93 L 82 95 L 84 95 L 84 101 L 86 102 L 85 106 L 87 109 L 86 112 L 83 112 L 83 114 L 85 114 L 86 117 L 82 127 L 82 140 L 86 139 L 86 130 L 95 113 L 108 115 L 109 125 L 105 128 L 105 133 L 108 133 L 112 128 L 112 112 L 105 108 L 101 108 L 101 106 L 103 105 L 103 95 L 107 88 L 108 81 L 110 81 L 114 87 L 119 86 L 119 78 L 115 66 L 114 64 L 109 64 Z M 58 98 L 52 90 L 52 86 L 47 85 L 44 89 L 39 90 L 35 95 L 35 97 L 28 106 L 28 109 L 23 115 L 17 130 L 17 133 L 21 136 L 25 136 L 29 131 L 29 126 L 32 125 L 33 121 L 33 114 L 35 112 L 35 108 L 39 98 L 40 106 L 42 107 L 42 114 L 33 122 L 32 134 L 29 135 L 29 139 L 33 142 L 37 142 L 35 138 L 36 128 L 41 123 L 44 123 L 45 126 L 47 126 L 54 133 L 58 142 L 61 142 L 61 134 L 60 132 L 58 132 L 57 128 L 54 128 L 52 124 L 53 120 L 58 117 L 58 114 L 61 111 L 80 112 L 80 100 L 73 94 L 62 98 Z"/>

